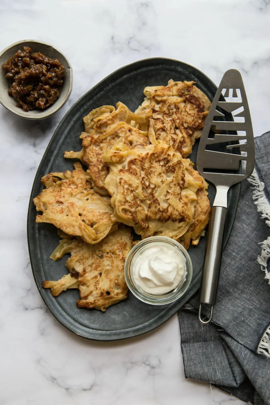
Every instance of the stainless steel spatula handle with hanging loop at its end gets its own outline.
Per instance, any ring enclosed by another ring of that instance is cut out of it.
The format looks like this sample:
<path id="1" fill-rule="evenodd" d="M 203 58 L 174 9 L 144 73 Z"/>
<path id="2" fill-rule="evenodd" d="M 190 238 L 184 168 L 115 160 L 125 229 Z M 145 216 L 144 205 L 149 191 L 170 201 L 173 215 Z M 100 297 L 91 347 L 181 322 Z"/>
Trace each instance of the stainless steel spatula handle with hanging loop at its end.
<path id="1" fill-rule="evenodd" d="M 215 305 L 217 296 L 227 211 L 228 210 L 225 207 L 212 207 L 210 211 L 208 237 L 206 241 L 204 268 L 202 271 L 199 298 L 199 320 L 202 324 L 208 324 L 211 322 L 213 316 L 213 305 Z M 202 303 L 211 305 L 208 320 L 202 319 Z"/>

